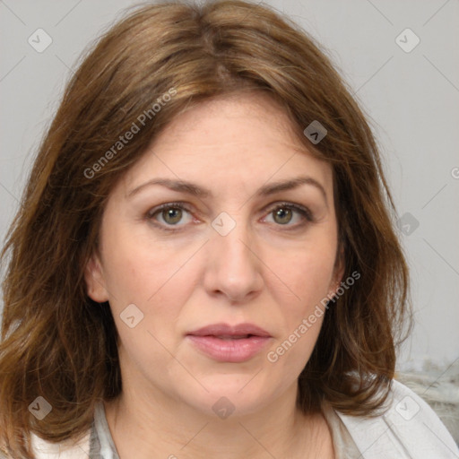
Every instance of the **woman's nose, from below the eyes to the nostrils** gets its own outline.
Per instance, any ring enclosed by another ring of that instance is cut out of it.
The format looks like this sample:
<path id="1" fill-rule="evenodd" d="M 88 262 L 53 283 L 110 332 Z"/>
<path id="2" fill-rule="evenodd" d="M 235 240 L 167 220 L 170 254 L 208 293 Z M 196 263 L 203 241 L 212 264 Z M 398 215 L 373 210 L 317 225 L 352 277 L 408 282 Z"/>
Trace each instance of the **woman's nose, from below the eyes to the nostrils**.
<path id="1" fill-rule="evenodd" d="M 214 231 L 207 247 L 204 288 L 232 303 L 254 299 L 263 289 L 263 263 L 244 225 L 226 236 Z"/>

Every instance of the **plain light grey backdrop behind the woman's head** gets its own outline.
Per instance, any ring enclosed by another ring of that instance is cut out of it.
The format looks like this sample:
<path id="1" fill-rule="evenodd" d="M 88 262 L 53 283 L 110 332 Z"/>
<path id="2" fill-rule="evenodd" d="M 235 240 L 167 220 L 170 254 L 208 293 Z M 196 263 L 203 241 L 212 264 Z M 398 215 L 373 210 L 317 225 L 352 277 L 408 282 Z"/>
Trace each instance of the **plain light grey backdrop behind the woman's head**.
<path id="1" fill-rule="evenodd" d="M 77 57 L 134 3 L 0 0 L 2 240 Z M 416 327 L 398 366 L 425 371 L 433 362 L 446 374 L 459 359 L 459 2 L 266 3 L 329 50 L 368 113 L 407 233 Z M 42 53 L 28 43 L 39 28 L 53 40 Z M 409 53 L 395 42 L 406 28 L 420 38 Z"/>

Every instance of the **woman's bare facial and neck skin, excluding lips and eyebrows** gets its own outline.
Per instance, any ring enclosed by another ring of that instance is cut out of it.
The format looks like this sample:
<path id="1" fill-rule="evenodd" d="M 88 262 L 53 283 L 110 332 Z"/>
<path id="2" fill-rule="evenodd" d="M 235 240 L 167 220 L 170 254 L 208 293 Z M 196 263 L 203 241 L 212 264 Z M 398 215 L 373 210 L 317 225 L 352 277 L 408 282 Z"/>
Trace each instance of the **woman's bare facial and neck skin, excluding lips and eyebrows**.
<path id="1" fill-rule="evenodd" d="M 256 194 L 300 176 L 325 195 L 310 184 Z M 153 178 L 187 180 L 212 196 L 160 185 L 129 195 Z M 177 202 L 189 212 L 172 210 L 170 219 L 155 210 Z M 313 221 L 282 202 L 307 207 Z M 236 225 L 226 236 L 212 227 L 221 212 Z M 337 233 L 331 167 L 266 96 L 206 101 L 155 138 L 109 196 L 85 273 L 91 299 L 109 301 L 120 338 L 123 392 L 105 408 L 122 459 L 132 451 L 138 459 L 333 457 L 325 418 L 295 406 L 323 316 L 277 361 L 267 354 L 339 286 Z M 143 312 L 133 328 L 120 317 L 130 304 Z M 249 322 L 272 338 L 252 359 L 218 362 L 186 333 L 221 322 Z M 226 419 L 212 410 L 222 396 L 234 407 Z"/>

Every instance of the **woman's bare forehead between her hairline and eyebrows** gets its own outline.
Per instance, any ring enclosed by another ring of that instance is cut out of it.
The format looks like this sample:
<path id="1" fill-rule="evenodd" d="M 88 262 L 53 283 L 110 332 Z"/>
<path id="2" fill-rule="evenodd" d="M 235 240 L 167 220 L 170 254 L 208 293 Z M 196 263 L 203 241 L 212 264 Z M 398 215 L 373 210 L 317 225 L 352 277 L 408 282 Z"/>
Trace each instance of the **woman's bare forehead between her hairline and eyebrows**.
<path id="1" fill-rule="evenodd" d="M 208 100 L 176 117 L 126 174 L 126 188 L 152 177 L 186 179 L 238 190 L 273 179 L 310 175 L 332 188 L 332 170 L 293 133 L 289 117 L 268 96 Z"/>

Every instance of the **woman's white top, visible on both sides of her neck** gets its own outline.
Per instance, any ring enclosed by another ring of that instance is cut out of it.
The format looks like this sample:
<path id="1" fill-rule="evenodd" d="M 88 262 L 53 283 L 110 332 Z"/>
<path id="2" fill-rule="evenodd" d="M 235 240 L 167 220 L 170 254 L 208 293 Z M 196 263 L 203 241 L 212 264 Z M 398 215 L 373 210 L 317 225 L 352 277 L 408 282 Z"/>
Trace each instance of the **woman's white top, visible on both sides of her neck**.
<path id="1" fill-rule="evenodd" d="M 435 411 L 406 385 L 392 381 L 385 407 L 384 414 L 369 418 L 324 404 L 335 459 L 459 459 L 459 448 Z M 37 459 L 119 459 L 102 403 L 80 442 L 52 444 L 32 434 L 32 446 Z"/>

